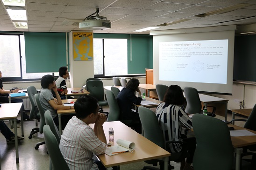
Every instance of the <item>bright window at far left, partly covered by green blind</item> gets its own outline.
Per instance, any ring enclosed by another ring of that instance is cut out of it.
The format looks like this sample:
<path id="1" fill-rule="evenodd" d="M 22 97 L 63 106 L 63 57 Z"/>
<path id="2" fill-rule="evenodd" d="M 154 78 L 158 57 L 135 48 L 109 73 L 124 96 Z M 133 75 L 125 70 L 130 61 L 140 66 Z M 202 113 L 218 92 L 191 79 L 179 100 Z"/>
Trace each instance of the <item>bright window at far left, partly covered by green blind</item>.
<path id="1" fill-rule="evenodd" d="M 0 71 L 3 81 L 35 80 L 41 79 L 43 75 L 52 75 L 52 73 L 26 73 L 24 35 L 0 34 L 0 40 Z"/>

